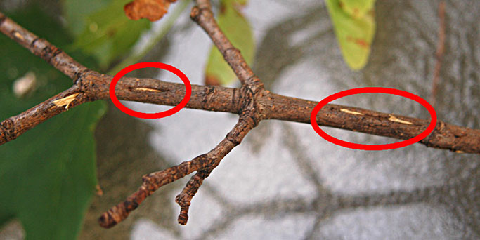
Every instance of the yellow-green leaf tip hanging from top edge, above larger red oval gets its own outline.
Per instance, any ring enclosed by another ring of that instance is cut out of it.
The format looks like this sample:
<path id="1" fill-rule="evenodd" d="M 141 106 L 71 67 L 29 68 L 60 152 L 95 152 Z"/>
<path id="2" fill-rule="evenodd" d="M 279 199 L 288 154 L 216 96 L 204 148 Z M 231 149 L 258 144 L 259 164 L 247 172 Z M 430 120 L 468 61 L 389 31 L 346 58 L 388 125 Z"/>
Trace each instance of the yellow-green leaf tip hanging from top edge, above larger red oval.
<path id="1" fill-rule="evenodd" d="M 346 63 L 362 69 L 375 35 L 375 0 L 326 0 Z"/>

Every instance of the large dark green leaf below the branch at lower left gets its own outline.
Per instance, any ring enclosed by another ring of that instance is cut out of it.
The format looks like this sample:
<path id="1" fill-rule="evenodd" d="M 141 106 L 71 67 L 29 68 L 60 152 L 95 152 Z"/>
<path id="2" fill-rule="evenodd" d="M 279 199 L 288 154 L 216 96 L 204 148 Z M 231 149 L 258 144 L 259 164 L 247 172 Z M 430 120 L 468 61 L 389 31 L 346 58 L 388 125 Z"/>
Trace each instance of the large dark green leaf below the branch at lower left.
<path id="1" fill-rule="evenodd" d="M 27 239 L 75 239 L 97 185 L 100 109 L 71 109 L 0 148 L 0 220 L 18 218 Z"/>

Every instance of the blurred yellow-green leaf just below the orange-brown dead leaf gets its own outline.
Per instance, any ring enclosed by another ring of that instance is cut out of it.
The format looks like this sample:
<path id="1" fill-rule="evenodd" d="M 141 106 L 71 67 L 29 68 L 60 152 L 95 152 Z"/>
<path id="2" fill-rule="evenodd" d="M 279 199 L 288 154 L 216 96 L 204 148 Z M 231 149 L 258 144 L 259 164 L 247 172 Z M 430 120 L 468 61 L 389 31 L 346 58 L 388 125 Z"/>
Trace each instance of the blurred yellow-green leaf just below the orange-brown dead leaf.
<path id="1" fill-rule="evenodd" d="M 109 4 L 86 15 L 83 32 L 73 45 L 74 49 L 79 48 L 84 53 L 93 55 L 102 69 L 107 69 L 114 60 L 129 53 L 141 33 L 150 27 L 148 20 L 133 21 L 127 18 L 123 7 L 128 2 L 129 0 L 110 0 Z M 75 4 L 65 6 L 70 8 Z"/>

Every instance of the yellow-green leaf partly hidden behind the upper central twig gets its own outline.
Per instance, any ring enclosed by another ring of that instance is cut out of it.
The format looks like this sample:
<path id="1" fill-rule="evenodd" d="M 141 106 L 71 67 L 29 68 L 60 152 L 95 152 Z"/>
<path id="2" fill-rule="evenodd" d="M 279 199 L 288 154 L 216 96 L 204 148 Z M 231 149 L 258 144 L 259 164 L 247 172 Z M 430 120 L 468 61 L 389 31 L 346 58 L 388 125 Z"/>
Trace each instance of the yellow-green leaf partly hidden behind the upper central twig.
<path id="1" fill-rule="evenodd" d="M 238 48 L 248 64 L 252 63 L 255 54 L 255 41 L 248 21 L 240 13 L 240 5 L 247 1 L 224 0 L 221 1 L 221 11 L 217 17 L 220 29 L 226 34 L 235 48 Z M 207 67 L 205 82 L 207 84 L 229 84 L 236 76 L 231 67 L 223 59 L 220 51 L 212 46 Z"/>

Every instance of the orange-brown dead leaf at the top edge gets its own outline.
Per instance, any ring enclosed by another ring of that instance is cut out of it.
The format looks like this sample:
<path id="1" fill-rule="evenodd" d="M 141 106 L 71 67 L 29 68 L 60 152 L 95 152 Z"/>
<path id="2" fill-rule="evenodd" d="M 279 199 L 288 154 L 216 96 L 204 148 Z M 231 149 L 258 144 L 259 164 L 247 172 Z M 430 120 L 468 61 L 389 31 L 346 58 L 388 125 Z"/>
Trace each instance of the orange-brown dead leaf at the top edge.
<path id="1" fill-rule="evenodd" d="M 176 0 L 134 0 L 124 6 L 125 15 L 131 20 L 147 18 L 155 22 L 167 13 L 171 3 Z"/>

